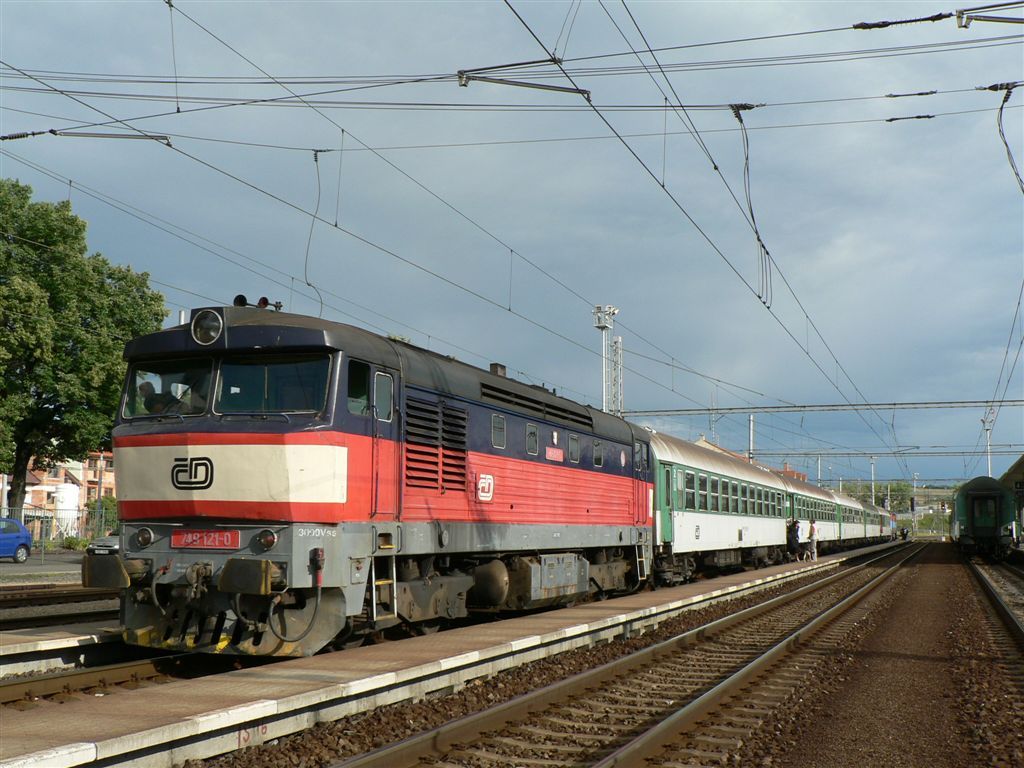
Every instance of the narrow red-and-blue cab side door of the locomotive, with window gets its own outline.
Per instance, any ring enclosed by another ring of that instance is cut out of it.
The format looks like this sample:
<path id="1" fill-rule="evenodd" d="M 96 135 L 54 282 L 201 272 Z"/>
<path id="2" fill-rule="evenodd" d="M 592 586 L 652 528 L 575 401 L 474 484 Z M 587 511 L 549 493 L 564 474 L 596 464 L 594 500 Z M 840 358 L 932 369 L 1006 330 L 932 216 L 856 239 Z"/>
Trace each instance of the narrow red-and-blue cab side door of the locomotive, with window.
<path id="1" fill-rule="evenodd" d="M 395 519 L 398 516 L 398 478 L 401 446 L 398 441 L 398 373 L 373 367 L 373 489 L 371 516 Z"/>

